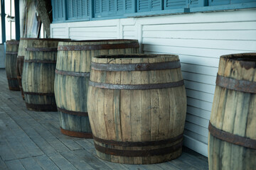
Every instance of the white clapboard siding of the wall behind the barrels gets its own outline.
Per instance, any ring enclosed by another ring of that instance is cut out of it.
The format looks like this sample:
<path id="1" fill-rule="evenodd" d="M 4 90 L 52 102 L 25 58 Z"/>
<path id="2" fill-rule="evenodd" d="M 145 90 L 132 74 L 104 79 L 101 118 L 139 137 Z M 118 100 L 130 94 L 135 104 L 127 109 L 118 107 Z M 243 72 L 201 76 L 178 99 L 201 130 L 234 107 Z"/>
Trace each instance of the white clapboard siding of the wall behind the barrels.
<path id="1" fill-rule="evenodd" d="M 256 10 L 189 13 L 50 25 L 53 38 L 137 39 L 146 54 L 174 54 L 186 86 L 184 145 L 207 157 L 219 58 L 256 52 Z"/>

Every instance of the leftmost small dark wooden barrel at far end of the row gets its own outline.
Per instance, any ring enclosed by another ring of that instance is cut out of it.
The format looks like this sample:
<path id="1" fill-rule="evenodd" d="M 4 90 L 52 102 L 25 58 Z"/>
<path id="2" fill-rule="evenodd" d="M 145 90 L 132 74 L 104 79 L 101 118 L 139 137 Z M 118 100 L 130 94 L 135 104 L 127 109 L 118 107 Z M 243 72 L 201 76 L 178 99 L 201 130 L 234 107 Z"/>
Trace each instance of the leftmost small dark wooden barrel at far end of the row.
<path id="1" fill-rule="evenodd" d="M 18 54 L 18 40 L 6 41 L 6 77 L 9 85 L 9 89 L 13 91 L 19 91 L 18 79 L 16 73 L 16 61 Z"/>

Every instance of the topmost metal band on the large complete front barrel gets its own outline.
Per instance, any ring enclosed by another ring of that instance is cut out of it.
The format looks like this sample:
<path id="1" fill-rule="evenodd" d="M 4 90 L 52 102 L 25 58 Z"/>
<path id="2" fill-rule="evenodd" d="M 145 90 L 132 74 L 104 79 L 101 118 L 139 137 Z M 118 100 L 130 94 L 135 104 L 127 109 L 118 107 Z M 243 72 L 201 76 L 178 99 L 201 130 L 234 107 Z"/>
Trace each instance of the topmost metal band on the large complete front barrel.
<path id="1" fill-rule="evenodd" d="M 103 64 L 91 62 L 91 69 L 101 71 L 128 72 L 128 71 L 150 71 L 163 69 L 181 68 L 180 61 L 175 62 L 156 62 L 156 63 L 138 63 L 138 64 Z"/>

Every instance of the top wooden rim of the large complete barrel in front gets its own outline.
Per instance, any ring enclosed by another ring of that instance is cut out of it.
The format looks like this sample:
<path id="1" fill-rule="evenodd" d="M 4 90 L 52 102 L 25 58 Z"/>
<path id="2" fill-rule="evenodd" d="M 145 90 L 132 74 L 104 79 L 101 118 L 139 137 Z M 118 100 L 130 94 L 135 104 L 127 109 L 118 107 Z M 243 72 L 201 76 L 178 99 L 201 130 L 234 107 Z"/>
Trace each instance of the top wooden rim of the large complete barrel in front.
<path id="1" fill-rule="evenodd" d="M 134 56 L 134 57 L 133 57 Z M 137 57 L 136 57 L 137 56 Z M 139 57 L 138 57 L 139 56 Z M 146 57 L 144 57 L 146 56 Z M 121 59 L 121 60 L 129 60 L 129 59 L 145 59 L 145 58 L 170 58 L 170 57 L 177 57 L 177 61 L 178 59 L 178 55 L 167 55 L 167 54 L 119 54 L 119 55 L 97 55 L 93 58 L 97 58 L 98 60 L 101 59 L 113 59 L 113 60 L 117 60 L 117 59 Z M 175 60 L 174 60 L 175 61 Z"/>

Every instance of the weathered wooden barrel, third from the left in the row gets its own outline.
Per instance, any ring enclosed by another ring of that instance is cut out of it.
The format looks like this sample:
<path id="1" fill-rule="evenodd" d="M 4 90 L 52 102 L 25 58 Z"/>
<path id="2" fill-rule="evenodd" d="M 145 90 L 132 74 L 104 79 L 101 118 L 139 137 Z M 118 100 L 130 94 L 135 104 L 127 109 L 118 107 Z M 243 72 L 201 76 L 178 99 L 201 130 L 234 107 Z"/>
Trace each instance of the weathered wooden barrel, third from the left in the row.
<path id="1" fill-rule="evenodd" d="M 54 76 L 58 42 L 63 40 L 69 39 L 27 39 L 21 81 L 28 110 L 57 111 Z"/>

